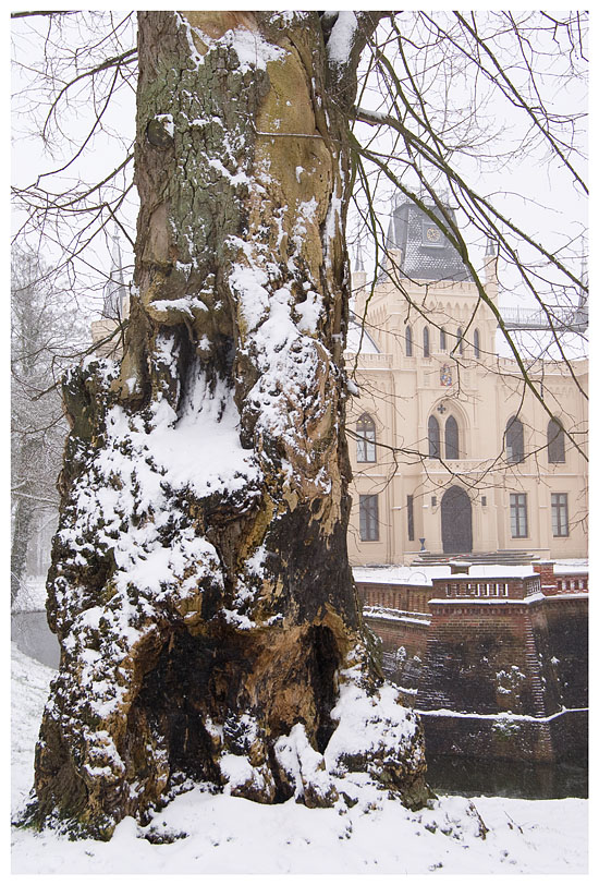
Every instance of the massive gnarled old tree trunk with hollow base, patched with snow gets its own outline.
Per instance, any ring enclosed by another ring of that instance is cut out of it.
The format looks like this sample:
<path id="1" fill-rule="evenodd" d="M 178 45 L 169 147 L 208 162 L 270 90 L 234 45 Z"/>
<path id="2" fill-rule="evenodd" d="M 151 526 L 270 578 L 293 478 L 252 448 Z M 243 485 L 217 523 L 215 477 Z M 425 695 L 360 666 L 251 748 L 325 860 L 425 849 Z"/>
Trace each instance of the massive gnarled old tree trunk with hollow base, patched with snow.
<path id="1" fill-rule="evenodd" d="M 345 547 L 345 112 L 375 17 L 341 16 L 326 44 L 316 12 L 139 13 L 136 295 L 121 366 L 64 387 L 37 825 L 108 838 L 197 781 L 427 796 Z"/>

